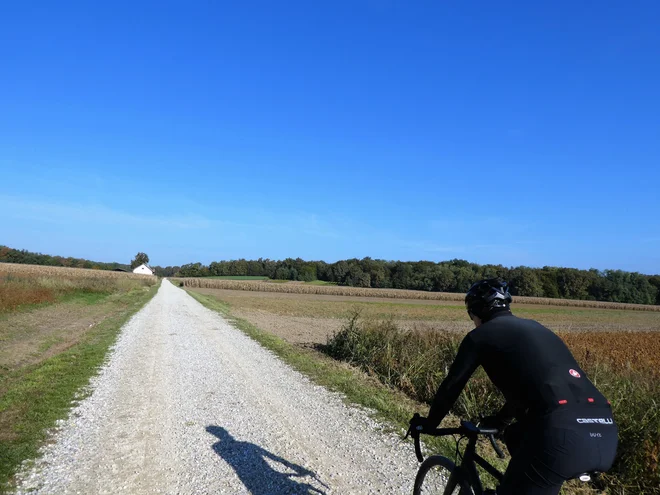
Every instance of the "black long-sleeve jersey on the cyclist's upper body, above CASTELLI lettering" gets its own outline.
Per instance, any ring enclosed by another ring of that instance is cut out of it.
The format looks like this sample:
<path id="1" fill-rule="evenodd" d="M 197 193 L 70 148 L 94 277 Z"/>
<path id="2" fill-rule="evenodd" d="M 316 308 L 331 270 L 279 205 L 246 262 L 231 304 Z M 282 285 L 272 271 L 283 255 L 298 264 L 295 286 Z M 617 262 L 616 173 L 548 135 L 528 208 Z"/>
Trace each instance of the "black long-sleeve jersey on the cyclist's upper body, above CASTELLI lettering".
<path id="1" fill-rule="evenodd" d="M 503 311 L 463 339 L 431 405 L 429 426 L 440 424 L 479 366 L 506 399 L 503 419 L 608 404 L 557 335 L 536 321 Z"/>

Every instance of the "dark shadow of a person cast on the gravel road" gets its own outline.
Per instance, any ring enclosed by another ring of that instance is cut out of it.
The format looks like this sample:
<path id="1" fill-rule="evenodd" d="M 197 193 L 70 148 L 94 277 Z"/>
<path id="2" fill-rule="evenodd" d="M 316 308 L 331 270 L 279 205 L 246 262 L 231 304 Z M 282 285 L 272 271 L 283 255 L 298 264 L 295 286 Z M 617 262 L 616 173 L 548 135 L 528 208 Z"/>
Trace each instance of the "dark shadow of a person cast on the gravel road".
<path id="1" fill-rule="evenodd" d="M 221 426 L 207 426 L 206 431 L 219 439 L 219 442 L 213 444 L 213 450 L 234 468 L 241 482 L 252 495 L 309 493 L 325 495 L 324 491 L 305 483 L 304 480 L 293 479 L 297 476 L 309 477 L 310 480 L 316 480 L 317 484 L 327 488 L 313 471 L 276 456 L 253 443 L 239 442 Z M 277 463 L 278 467 L 286 472 L 273 469 L 267 459 Z"/>

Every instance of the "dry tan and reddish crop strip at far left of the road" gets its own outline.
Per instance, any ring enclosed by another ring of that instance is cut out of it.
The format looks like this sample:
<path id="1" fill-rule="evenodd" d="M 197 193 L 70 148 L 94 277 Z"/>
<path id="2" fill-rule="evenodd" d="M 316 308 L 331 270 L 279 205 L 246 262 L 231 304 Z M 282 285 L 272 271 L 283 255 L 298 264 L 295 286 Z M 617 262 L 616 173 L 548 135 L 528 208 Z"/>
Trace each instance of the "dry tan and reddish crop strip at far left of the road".
<path id="1" fill-rule="evenodd" d="M 0 263 L 0 312 L 52 303 L 72 293 L 128 291 L 157 282 L 156 277 L 133 273 Z"/>

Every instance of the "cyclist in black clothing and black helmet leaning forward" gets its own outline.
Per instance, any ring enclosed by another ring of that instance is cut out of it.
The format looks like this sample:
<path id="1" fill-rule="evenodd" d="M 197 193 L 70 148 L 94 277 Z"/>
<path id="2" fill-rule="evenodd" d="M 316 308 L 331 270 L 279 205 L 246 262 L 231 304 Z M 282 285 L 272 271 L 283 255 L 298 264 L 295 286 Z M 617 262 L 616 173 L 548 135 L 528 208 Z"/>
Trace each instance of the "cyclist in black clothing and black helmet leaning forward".
<path id="1" fill-rule="evenodd" d="M 540 323 L 514 316 L 510 303 L 501 279 L 472 285 L 465 305 L 476 328 L 463 339 L 428 417 L 411 425 L 437 428 L 483 366 L 506 399 L 502 410 L 485 420 L 485 426 L 504 430 L 511 453 L 497 493 L 556 495 L 564 481 L 612 466 L 617 427 L 609 401 L 564 342 Z"/>

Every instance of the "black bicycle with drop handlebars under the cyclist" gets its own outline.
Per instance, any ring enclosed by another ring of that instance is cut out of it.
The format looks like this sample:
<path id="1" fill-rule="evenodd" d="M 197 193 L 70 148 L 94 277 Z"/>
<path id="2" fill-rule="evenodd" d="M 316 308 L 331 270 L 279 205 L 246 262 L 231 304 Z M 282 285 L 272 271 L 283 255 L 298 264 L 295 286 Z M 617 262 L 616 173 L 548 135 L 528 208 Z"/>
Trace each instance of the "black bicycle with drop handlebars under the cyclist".
<path id="1" fill-rule="evenodd" d="M 416 415 L 417 416 L 417 415 Z M 504 473 L 500 472 L 486 459 L 476 452 L 477 440 L 479 435 L 484 435 L 490 440 L 490 444 L 500 459 L 506 456 L 495 441 L 495 435 L 499 430 L 495 428 L 480 428 L 470 421 L 461 421 L 458 428 L 437 428 L 430 432 L 423 432 L 425 435 L 433 437 L 442 437 L 448 435 L 460 435 L 456 441 L 456 453 L 460 456 L 461 462 L 456 465 L 454 461 L 441 455 L 432 455 L 424 460 L 420 443 L 420 431 L 408 430 L 408 435 L 415 441 L 415 454 L 417 460 L 422 463 L 415 477 L 415 487 L 413 495 L 486 495 L 495 493 L 492 490 L 484 491 L 477 466 L 483 468 L 488 474 L 493 476 L 498 482 L 502 481 Z M 460 442 L 467 439 L 467 447 L 462 455 L 459 452 Z M 590 481 L 591 475 L 595 473 L 583 473 L 577 476 L 581 481 Z"/>

